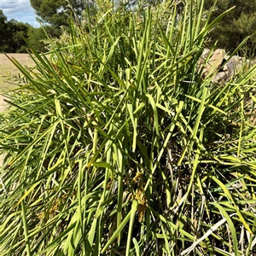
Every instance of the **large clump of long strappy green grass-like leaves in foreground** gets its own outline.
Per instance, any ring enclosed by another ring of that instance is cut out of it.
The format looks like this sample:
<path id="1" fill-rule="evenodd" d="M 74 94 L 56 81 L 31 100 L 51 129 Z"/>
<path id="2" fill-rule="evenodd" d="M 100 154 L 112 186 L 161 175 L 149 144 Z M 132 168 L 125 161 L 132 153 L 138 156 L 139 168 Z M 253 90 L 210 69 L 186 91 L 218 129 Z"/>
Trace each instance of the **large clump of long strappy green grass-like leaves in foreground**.
<path id="1" fill-rule="evenodd" d="M 255 255 L 255 71 L 201 78 L 203 2 L 98 1 L 12 60 L 1 255 Z"/>

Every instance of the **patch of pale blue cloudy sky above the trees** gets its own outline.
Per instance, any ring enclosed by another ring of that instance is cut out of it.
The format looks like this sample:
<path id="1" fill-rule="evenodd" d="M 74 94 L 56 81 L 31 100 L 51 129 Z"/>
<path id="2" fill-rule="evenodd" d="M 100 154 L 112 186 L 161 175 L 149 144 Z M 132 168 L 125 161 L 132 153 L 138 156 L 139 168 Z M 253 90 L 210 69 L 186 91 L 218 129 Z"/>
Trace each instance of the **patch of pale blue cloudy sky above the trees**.
<path id="1" fill-rule="evenodd" d="M 40 26 L 29 0 L 0 0 L 0 9 L 8 20 L 15 19 L 35 27 Z"/>

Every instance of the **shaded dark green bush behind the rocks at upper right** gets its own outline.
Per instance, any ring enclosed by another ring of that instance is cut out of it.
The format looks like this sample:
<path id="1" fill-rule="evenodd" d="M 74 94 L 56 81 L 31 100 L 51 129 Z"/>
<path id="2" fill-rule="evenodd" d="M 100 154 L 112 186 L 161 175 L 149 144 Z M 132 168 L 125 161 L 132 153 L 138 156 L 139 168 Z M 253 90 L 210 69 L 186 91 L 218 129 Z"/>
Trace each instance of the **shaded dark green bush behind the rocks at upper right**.
<path id="1" fill-rule="evenodd" d="M 215 0 L 206 1 L 206 9 L 210 9 Z M 220 20 L 218 25 L 209 34 L 212 37 L 212 44 L 218 40 L 219 48 L 226 48 L 233 51 L 246 37 L 250 37 L 241 48 L 241 52 L 247 55 L 255 55 L 256 49 L 256 4 L 254 0 L 226 1 L 218 0 L 216 8 L 212 13 L 214 19 L 225 10 L 236 6 L 228 15 Z"/>

